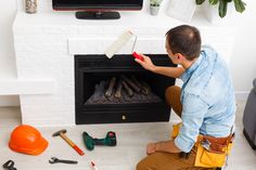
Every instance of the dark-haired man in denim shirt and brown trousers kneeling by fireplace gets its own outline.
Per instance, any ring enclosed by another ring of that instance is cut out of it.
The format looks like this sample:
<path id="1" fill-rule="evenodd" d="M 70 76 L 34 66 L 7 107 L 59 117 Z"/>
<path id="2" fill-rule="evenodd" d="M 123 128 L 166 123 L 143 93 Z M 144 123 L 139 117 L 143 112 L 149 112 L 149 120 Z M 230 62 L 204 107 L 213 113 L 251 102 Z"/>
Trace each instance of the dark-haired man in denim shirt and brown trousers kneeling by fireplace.
<path id="1" fill-rule="evenodd" d="M 189 25 L 167 31 L 166 51 L 172 63 L 181 67 L 155 66 L 143 54 L 143 61 L 136 62 L 155 74 L 181 78 L 182 88 L 167 88 L 166 101 L 181 117 L 182 126 L 175 140 L 148 144 L 148 157 L 138 164 L 137 170 L 207 169 L 194 166 L 194 144 L 200 134 L 230 136 L 235 102 L 228 68 L 210 47 L 201 51 L 200 31 Z"/>

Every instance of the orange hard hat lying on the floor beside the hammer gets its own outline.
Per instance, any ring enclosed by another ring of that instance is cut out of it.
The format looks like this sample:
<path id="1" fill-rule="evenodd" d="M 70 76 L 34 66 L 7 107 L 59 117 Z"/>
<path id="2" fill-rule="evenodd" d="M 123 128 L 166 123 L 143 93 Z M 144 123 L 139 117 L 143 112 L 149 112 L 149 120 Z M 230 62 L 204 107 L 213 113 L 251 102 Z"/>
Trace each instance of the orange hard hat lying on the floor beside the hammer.
<path id="1" fill-rule="evenodd" d="M 31 126 L 23 125 L 16 127 L 10 138 L 9 147 L 18 153 L 39 155 L 48 146 L 40 132 Z"/>

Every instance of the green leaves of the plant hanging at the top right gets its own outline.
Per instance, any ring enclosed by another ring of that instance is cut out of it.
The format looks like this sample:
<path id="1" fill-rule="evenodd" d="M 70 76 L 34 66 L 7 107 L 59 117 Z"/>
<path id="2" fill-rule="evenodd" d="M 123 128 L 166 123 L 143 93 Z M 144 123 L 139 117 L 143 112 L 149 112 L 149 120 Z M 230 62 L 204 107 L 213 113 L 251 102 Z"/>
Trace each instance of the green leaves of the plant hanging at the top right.
<path id="1" fill-rule="evenodd" d="M 204 1 L 205 0 L 195 0 L 195 3 L 202 4 L 202 3 L 204 3 Z M 219 3 L 218 11 L 219 11 L 219 16 L 221 18 L 225 17 L 227 14 L 228 3 L 233 2 L 235 11 L 238 11 L 240 13 L 244 12 L 245 5 L 246 5 L 242 0 L 208 0 L 208 2 L 210 5 L 217 5 Z"/>

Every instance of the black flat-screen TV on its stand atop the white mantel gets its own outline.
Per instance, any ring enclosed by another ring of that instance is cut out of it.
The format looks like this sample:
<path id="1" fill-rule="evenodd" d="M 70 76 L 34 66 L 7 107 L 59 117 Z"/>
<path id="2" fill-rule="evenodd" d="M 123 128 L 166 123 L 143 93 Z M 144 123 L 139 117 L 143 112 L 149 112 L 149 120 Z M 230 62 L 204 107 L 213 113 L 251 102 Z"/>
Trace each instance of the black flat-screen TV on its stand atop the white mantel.
<path id="1" fill-rule="evenodd" d="M 116 11 L 141 10 L 143 0 L 52 0 L 53 10 L 77 11 L 77 18 L 119 18 Z"/>

